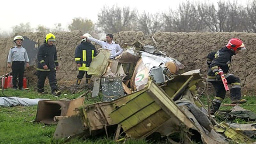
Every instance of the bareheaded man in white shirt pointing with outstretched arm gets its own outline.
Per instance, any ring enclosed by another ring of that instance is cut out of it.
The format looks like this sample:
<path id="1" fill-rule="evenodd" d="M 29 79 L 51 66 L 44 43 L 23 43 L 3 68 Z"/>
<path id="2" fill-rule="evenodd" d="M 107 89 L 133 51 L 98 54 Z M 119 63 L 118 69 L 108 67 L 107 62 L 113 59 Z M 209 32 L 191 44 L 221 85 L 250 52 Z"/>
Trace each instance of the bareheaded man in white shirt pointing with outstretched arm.
<path id="1" fill-rule="evenodd" d="M 113 59 L 120 55 L 124 50 L 120 47 L 119 44 L 113 41 L 113 35 L 112 34 L 107 34 L 106 35 L 106 41 L 101 41 L 92 37 L 87 37 L 87 36 L 80 36 L 81 38 L 88 39 L 92 42 L 95 42 L 96 44 L 99 44 L 102 46 L 103 49 L 108 49 L 111 50 L 110 53 L 110 59 Z"/>

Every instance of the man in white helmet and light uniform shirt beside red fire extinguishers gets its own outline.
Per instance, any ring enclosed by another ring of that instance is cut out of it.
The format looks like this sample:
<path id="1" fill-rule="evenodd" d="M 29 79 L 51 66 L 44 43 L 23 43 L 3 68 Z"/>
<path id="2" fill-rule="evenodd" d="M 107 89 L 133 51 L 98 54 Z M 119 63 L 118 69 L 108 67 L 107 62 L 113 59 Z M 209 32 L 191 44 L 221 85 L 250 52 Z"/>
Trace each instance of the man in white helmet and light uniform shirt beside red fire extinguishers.
<path id="1" fill-rule="evenodd" d="M 19 89 L 22 90 L 23 88 L 23 76 L 24 76 L 24 65 L 26 62 L 26 67 L 29 67 L 29 59 L 28 53 L 24 47 L 22 47 L 22 41 L 24 38 L 22 36 L 15 36 L 13 38 L 14 43 L 16 46 L 10 49 L 7 66 L 11 67 L 12 62 L 12 84 L 13 89 L 17 89 L 17 77 L 19 77 Z"/>

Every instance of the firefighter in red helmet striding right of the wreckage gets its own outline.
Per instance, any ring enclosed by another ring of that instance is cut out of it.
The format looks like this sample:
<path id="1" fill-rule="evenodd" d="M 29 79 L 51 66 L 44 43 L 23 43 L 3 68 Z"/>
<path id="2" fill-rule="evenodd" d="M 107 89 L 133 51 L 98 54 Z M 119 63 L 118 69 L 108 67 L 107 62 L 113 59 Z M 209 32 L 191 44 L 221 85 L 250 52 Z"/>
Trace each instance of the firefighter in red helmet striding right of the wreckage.
<path id="1" fill-rule="evenodd" d="M 241 84 L 240 79 L 232 74 L 228 74 L 228 70 L 231 63 L 231 57 L 236 55 L 241 50 L 245 50 L 244 43 L 238 38 L 232 38 L 228 41 L 228 44 L 215 52 L 213 57 L 213 52 L 209 53 L 207 56 L 207 61 L 212 62 L 208 69 L 207 81 L 212 83 L 214 86 L 216 96 L 213 99 L 212 106 L 210 107 L 210 114 L 214 113 L 220 108 L 220 104 L 225 98 L 226 90 L 220 78 L 220 72 L 223 72 L 225 78 L 230 84 L 230 99 L 232 104 L 245 103 L 245 99 L 241 99 Z"/>

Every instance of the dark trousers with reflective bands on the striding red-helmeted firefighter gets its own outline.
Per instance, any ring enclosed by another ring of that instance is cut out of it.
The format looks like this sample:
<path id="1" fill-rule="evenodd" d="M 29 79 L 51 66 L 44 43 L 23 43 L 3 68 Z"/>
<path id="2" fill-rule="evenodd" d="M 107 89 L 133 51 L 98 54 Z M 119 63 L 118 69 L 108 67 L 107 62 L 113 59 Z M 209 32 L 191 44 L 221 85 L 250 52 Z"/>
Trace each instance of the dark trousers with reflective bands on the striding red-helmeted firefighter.
<path id="1" fill-rule="evenodd" d="M 234 76 L 234 75 L 230 75 L 226 79 L 228 81 L 228 84 L 231 84 L 230 99 L 231 100 L 241 99 L 240 79 L 238 77 Z M 224 85 L 223 85 L 222 81 L 213 81 L 211 83 L 214 86 L 216 96 L 224 99 L 225 95 L 226 95 L 226 90 L 224 88 Z"/>

